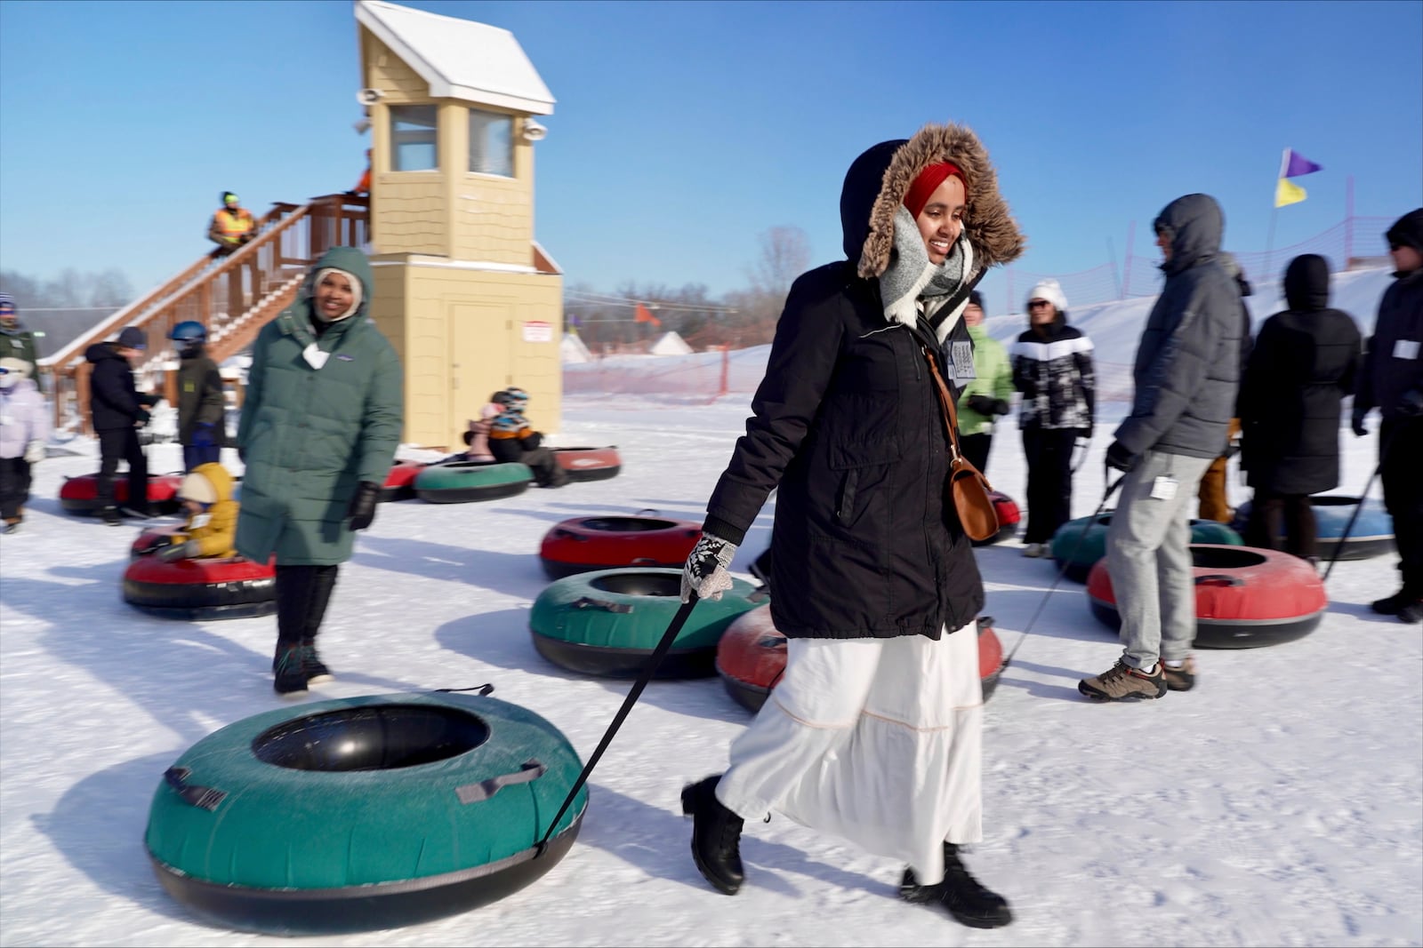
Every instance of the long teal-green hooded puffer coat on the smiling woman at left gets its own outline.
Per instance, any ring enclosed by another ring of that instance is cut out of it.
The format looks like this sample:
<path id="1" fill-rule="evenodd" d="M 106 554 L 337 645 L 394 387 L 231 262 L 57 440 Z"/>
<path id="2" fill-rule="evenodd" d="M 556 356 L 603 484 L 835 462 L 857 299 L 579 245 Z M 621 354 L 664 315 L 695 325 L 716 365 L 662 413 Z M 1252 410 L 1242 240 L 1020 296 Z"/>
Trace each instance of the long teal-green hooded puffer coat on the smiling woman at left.
<path id="1" fill-rule="evenodd" d="M 336 267 L 360 280 L 361 303 L 317 338 L 314 277 Z M 346 510 L 356 485 L 386 483 L 400 443 L 404 381 L 396 351 L 367 318 L 374 284 L 366 254 L 333 247 L 297 301 L 252 345 L 238 451 L 246 463 L 238 551 L 258 563 L 329 566 L 350 559 Z M 326 352 L 314 368 L 305 351 Z"/>

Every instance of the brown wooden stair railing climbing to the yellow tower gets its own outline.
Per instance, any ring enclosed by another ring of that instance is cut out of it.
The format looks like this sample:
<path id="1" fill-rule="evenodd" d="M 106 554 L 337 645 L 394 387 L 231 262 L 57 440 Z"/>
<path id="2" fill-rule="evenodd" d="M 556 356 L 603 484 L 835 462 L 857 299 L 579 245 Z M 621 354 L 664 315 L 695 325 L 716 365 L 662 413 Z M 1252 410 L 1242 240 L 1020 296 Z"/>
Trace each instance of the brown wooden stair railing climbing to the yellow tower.
<path id="1" fill-rule="evenodd" d="M 364 196 L 326 195 L 306 205 L 277 203 L 258 223 L 258 236 L 226 257 L 203 257 L 152 293 L 124 307 L 46 360 L 53 375 L 55 428 L 90 432 L 88 374 L 84 358 L 94 343 L 125 325 L 148 337 L 135 365 L 141 388 L 174 398 L 178 352 L 169 335 L 194 320 L 208 328 L 208 354 L 221 362 L 246 348 L 258 331 L 290 304 L 302 279 L 334 246 L 369 240 L 370 203 Z"/>

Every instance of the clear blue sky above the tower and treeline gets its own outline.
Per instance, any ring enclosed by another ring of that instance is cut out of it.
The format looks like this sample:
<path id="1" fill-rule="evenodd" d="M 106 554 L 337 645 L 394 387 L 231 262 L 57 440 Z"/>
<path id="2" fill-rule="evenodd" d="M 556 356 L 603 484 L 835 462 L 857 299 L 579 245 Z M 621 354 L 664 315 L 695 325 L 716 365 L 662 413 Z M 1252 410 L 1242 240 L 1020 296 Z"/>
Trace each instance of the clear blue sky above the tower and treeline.
<path id="1" fill-rule="evenodd" d="M 1035 273 L 1120 263 L 1133 222 L 1154 257 L 1151 219 L 1197 190 L 1264 250 L 1286 146 L 1325 171 L 1276 249 L 1340 222 L 1350 175 L 1356 215 L 1423 205 L 1420 3 L 406 6 L 519 40 L 558 99 L 536 236 L 596 290 L 740 289 L 774 226 L 838 259 L 845 168 L 928 121 L 978 131 Z M 142 290 L 208 249 L 219 192 L 262 212 L 364 169 L 346 0 L 4 0 L 0 44 L 7 270 Z"/>

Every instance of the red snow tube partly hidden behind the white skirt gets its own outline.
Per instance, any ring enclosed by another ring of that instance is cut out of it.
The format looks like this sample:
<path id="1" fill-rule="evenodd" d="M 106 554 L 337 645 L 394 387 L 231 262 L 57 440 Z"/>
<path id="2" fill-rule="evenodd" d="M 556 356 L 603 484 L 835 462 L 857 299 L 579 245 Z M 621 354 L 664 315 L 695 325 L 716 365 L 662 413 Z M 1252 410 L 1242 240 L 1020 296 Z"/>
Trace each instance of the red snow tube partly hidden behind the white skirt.
<path id="1" fill-rule="evenodd" d="M 978 620 L 979 681 L 988 701 L 1003 674 L 1003 645 L 993 631 L 993 618 Z M 721 634 L 716 647 L 716 671 L 726 692 L 748 711 L 760 711 L 766 696 L 785 672 L 785 635 L 771 624 L 771 605 L 757 605 L 740 615 Z"/>

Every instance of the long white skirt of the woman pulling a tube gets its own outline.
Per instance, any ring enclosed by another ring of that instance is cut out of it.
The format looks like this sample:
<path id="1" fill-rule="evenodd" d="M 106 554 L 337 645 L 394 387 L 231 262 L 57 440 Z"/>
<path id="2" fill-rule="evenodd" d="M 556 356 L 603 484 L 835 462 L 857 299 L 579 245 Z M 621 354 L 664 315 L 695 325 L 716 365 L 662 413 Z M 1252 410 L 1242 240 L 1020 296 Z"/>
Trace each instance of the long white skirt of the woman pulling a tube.
<path id="1" fill-rule="evenodd" d="M 939 641 L 793 638 L 716 795 L 744 820 L 776 810 L 932 884 L 945 840 L 983 839 L 982 732 L 973 627 Z"/>

